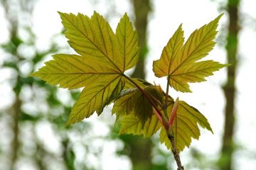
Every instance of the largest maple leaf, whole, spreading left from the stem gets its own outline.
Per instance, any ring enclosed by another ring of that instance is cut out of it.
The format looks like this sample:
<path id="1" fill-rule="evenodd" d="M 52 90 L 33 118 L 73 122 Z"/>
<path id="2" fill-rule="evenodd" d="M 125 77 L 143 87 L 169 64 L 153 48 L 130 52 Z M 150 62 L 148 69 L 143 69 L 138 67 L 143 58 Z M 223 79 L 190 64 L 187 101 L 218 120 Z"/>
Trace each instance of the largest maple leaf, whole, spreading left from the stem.
<path id="1" fill-rule="evenodd" d="M 68 124 L 90 117 L 119 96 L 127 79 L 124 72 L 139 57 L 137 33 L 127 13 L 114 34 L 109 23 L 94 13 L 91 18 L 78 13 L 60 13 L 65 36 L 78 55 L 53 55 L 53 60 L 31 74 L 48 84 L 68 89 L 85 87 L 73 106 Z"/>

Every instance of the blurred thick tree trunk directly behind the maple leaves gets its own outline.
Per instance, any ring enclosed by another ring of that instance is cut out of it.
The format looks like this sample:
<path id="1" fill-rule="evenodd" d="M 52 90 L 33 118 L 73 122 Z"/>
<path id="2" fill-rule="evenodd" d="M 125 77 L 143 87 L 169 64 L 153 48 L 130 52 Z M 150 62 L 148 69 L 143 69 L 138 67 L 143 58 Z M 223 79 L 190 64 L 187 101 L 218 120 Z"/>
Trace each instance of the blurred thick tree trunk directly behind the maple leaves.
<path id="1" fill-rule="evenodd" d="M 146 45 L 146 28 L 148 23 L 148 14 L 151 10 L 149 0 L 137 1 L 133 0 L 134 13 L 136 16 L 135 27 L 139 36 L 139 47 L 141 47 L 141 55 L 139 62 L 132 73 L 132 77 L 145 79 L 145 66 L 147 45 Z M 131 149 L 129 155 L 132 160 L 134 170 L 149 170 L 152 167 L 151 163 L 151 140 L 143 139 L 138 136 L 131 136 L 127 140 L 127 145 Z"/>

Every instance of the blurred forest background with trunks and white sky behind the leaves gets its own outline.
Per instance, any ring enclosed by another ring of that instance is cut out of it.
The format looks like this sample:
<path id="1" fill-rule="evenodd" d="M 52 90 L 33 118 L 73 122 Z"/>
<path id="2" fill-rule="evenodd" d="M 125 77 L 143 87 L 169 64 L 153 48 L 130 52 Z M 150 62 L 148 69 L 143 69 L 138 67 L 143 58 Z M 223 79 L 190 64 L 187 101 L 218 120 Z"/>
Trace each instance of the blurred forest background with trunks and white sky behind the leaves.
<path id="1" fill-rule="evenodd" d="M 115 30 L 127 12 L 137 28 L 141 56 L 132 77 L 166 86 L 154 77 L 153 60 L 183 23 L 185 38 L 220 13 L 217 45 L 209 59 L 230 63 L 193 94 L 170 95 L 206 115 L 214 135 L 202 130 L 181 153 L 186 169 L 256 169 L 256 2 L 254 0 L 0 0 L 0 169 L 176 169 L 159 142 L 118 135 L 111 107 L 66 127 L 80 90 L 68 91 L 28 77 L 55 53 L 74 53 L 57 11 L 97 11 Z"/>

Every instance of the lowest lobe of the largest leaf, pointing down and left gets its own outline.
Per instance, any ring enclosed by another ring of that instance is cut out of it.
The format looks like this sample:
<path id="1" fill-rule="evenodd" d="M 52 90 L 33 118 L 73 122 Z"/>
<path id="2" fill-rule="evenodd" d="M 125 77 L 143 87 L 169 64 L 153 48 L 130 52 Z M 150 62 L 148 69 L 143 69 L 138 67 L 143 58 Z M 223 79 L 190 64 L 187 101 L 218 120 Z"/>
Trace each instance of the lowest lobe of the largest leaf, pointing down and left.
<path id="1" fill-rule="evenodd" d="M 111 101 L 111 96 L 117 96 L 124 86 L 122 77 L 118 75 L 107 75 L 105 77 L 97 77 L 95 81 L 82 90 L 78 101 L 72 108 L 68 118 L 68 124 L 80 122 L 84 118 L 89 118 L 95 111 L 100 115 L 103 108 Z M 118 94 L 114 94 L 117 88 Z"/>

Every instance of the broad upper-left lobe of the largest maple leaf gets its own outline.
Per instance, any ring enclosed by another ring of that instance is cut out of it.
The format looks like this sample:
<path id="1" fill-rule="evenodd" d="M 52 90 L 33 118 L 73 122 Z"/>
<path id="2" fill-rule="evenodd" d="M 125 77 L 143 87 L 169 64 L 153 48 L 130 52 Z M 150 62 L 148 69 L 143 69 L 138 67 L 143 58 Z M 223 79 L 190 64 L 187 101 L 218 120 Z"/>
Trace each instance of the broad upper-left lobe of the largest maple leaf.
<path id="1" fill-rule="evenodd" d="M 60 13 L 60 12 L 59 12 Z M 115 36 L 109 23 L 94 12 L 92 17 L 78 13 L 60 13 L 65 36 L 72 47 L 81 56 L 88 56 L 108 61 L 115 69 L 122 68 L 122 59 L 114 57 Z"/>

